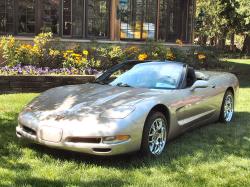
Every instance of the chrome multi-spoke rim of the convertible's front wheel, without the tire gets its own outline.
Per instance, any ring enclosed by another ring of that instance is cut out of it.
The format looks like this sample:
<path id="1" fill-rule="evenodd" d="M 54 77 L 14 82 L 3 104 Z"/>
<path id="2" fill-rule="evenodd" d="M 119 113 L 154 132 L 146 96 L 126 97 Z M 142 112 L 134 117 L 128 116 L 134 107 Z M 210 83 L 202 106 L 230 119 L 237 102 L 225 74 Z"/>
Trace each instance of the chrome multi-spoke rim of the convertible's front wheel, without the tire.
<path id="1" fill-rule="evenodd" d="M 167 139 L 166 122 L 162 118 L 157 118 L 152 123 L 149 135 L 149 150 L 153 155 L 160 155 L 164 150 Z"/>

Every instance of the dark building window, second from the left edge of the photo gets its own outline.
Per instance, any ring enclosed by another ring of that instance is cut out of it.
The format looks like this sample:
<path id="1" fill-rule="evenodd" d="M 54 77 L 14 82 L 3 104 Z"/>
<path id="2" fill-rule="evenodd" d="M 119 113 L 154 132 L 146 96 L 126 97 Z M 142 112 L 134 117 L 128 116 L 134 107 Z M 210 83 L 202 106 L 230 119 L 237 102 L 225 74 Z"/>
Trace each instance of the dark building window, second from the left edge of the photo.
<path id="1" fill-rule="evenodd" d="M 18 33 L 35 33 L 35 0 L 18 1 Z"/>

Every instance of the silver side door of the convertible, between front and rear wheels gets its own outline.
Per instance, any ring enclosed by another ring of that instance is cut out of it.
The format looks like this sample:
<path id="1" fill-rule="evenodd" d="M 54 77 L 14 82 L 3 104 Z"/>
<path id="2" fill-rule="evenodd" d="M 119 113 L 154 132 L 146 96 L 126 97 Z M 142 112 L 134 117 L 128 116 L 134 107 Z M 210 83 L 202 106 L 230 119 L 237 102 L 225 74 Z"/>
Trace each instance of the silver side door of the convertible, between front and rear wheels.
<path id="1" fill-rule="evenodd" d="M 216 114 L 216 85 L 207 80 L 207 86 L 192 89 L 186 87 L 178 90 L 181 101 L 176 105 L 176 118 L 183 129 L 199 125 L 212 119 Z"/>

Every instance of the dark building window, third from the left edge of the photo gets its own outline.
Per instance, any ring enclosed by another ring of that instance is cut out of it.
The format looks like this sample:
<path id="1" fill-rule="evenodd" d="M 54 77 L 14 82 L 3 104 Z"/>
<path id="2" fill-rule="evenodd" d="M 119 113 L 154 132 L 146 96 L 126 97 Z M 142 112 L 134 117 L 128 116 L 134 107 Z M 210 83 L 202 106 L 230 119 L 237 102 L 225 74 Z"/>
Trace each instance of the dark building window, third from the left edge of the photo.
<path id="1" fill-rule="evenodd" d="M 59 6 L 60 0 L 42 1 L 42 28 L 43 32 L 59 34 Z"/>

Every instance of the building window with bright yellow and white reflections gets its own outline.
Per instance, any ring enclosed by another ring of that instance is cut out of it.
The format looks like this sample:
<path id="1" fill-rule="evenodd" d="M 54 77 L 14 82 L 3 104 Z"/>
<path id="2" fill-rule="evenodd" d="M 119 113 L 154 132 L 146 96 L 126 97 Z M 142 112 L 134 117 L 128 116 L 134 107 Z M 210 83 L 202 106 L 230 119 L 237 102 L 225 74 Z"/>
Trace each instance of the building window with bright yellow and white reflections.
<path id="1" fill-rule="evenodd" d="M 157 1 L 120 0 L 121 39 L 154 39 Z"/>

